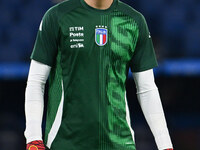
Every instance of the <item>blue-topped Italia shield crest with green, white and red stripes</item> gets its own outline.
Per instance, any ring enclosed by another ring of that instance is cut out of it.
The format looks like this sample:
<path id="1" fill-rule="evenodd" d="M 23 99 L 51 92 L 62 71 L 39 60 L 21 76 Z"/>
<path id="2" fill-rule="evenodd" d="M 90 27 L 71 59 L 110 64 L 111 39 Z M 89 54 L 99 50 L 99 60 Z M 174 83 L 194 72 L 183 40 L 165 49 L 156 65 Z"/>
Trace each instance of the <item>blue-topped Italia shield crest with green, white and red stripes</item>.
<path id="1" fill-rule="evenodd" d="M 95 29 L 95 41 L 99 46 L 106 45 L 108 41 L 107 26 L 97 26 L 97 28 Z"/>

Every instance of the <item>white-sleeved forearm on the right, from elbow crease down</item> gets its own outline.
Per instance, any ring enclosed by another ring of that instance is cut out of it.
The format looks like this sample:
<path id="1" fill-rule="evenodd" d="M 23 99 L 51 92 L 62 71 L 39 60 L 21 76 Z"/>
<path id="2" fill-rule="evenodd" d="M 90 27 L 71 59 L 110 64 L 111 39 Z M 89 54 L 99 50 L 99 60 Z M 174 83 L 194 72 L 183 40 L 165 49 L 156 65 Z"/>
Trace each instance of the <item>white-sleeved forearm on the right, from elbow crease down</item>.
<path id="1" fill-rule="evenodd" d="M 137 95 L 146 121 L 159 150 L 172 148 L 160 96 L 157 89 Z"/>

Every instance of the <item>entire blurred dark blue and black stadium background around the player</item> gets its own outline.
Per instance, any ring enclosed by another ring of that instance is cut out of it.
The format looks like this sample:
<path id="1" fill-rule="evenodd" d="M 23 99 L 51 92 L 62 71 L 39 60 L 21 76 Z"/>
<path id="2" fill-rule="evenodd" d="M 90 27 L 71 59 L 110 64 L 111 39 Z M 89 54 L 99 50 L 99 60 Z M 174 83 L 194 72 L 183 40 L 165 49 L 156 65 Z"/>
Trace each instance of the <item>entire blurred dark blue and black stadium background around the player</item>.
<path id="1" fill-rule="evenodd" d="M 123 0 L 147 19 L 159 68 L 156 83 L 175 150 L 200 149 L 200 1 Z M 40 20 L 58 1 L 0 0 L 0 150 L 23 150 L 24 91 Z M 136 100 L 127 94 L 138 150 L 156 150 Z"/>

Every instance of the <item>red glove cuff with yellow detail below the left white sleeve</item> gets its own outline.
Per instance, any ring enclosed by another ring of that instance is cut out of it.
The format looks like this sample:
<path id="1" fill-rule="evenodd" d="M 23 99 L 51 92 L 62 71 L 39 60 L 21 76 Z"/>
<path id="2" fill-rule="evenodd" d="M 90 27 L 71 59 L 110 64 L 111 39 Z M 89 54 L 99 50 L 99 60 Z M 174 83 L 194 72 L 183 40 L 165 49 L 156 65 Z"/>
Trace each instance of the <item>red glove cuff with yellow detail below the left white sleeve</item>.
<path id="1" fill-rule="evenodd" d="M 45 150 L 43 141 L 32 141 L 27 144 L 26 150 Z"/>

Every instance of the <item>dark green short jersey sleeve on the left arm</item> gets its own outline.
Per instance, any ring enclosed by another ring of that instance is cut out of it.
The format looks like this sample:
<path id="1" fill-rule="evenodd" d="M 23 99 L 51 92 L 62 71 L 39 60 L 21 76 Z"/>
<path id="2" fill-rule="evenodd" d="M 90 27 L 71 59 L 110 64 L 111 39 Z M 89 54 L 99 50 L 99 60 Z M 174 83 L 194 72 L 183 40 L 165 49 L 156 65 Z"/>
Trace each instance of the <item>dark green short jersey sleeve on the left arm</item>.
<path id="1" fill-rule="evenodd" d="M 31 55 L 32 59 L 52 66 L 55 63 L 58 49 L 59 25 L 56 9 L 49 9 L 41 22 L 36 44 Z"/>

